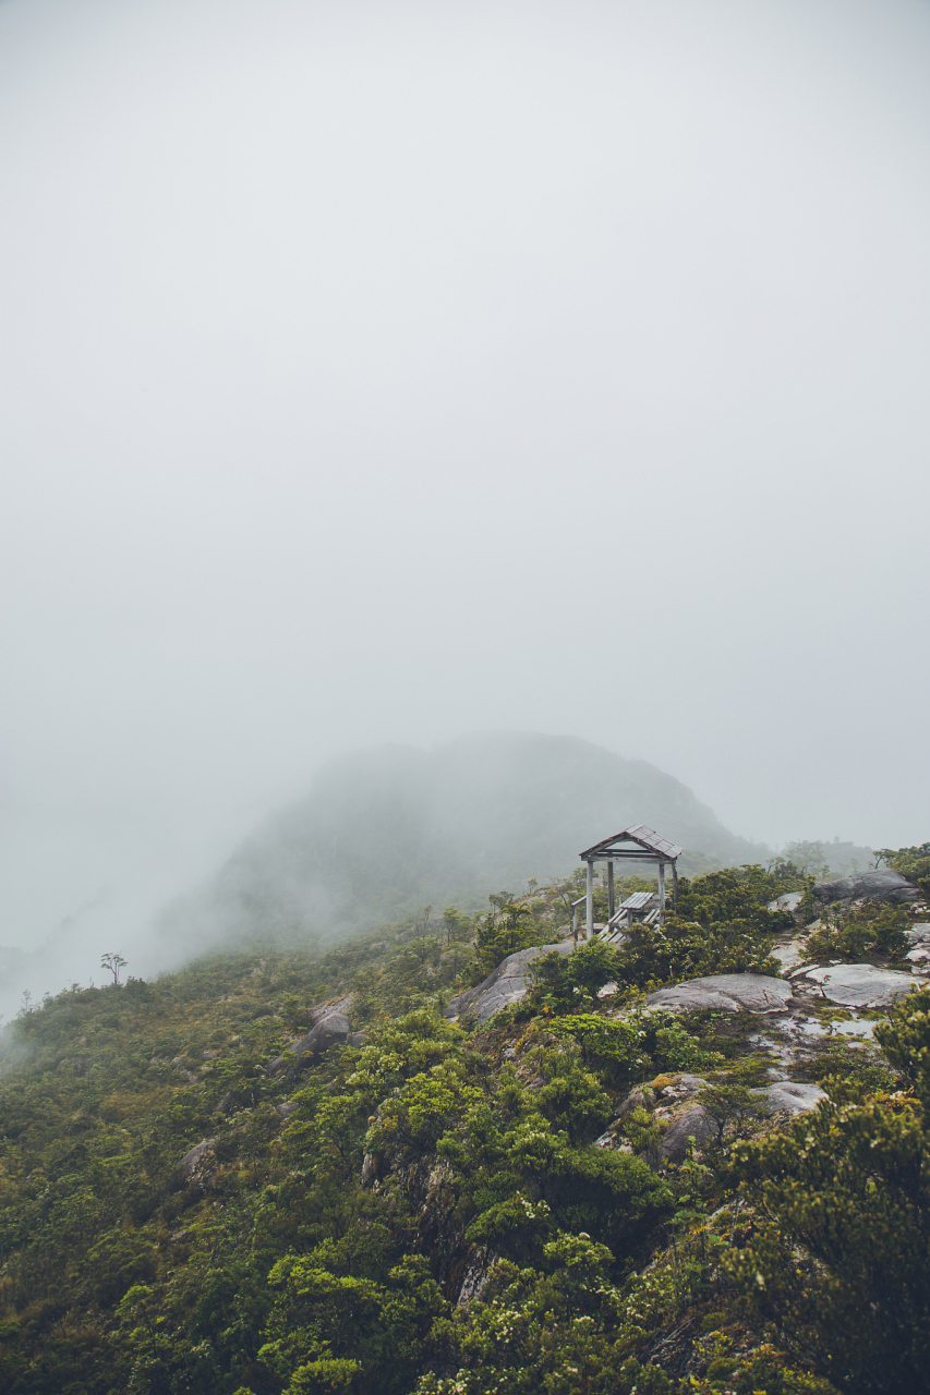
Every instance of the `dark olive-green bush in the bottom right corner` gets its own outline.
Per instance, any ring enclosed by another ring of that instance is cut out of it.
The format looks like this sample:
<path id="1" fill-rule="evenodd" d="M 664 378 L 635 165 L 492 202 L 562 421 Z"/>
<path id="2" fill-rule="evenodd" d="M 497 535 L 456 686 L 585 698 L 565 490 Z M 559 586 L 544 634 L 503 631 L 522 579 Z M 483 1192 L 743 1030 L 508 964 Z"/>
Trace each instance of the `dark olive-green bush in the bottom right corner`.
<path id="1" fill-rule="evenodd" d="M 929 1007 L 930 992 L 915 993 L 877 1028 L 917 1099 L 853 1102 L 836 1083 L 785 1134 L 737 1147 L 760 1223 L 730 1276 L 849 1395 L 905 1395 L 930 1360 Z"/>

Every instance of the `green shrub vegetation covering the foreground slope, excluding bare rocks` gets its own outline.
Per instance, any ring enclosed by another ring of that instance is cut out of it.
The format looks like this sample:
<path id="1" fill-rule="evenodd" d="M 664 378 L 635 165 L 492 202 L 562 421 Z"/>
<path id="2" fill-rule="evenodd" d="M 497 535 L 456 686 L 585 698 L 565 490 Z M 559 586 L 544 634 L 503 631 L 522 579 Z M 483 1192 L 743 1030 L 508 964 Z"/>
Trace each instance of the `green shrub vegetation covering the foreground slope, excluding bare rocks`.
<path id="1" fill-rule="evenodd" d="M 929 845 L 883 857 L 930 887 Z M 0 1078 L 1 1388 L 923 1388 L 930 990 L 880 1049 L 827 1038 L 828 1099 L 796 1120 L 753 1095 L 757 1018 L 644 1010 L 662 983 L 774 972 L 793 921 L 768 905 L 811 884 L 785 858 L 683 879 L 665 926 L 542 956 L 478 1030 L 448 996 L 564 935 L 577 876 L 24 1006 Z M 299 1060 L 314 1006 L 349 993 L 364 1035 Z M 673 1161 L 654 1105 L 680 1071 L 715 1129 Z"/>

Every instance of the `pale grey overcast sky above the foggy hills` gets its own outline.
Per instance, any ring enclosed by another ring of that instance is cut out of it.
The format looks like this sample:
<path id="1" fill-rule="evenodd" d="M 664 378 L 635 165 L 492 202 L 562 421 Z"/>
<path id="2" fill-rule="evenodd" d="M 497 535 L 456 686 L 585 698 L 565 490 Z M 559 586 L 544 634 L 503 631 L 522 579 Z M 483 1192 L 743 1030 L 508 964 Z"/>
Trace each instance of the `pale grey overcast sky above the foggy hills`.
<path id="1" fill-rule="evenodd" d="M 482 728 L 930 837 L 926 0 L 1 0 L 0 190 L 0 943 Z"/>

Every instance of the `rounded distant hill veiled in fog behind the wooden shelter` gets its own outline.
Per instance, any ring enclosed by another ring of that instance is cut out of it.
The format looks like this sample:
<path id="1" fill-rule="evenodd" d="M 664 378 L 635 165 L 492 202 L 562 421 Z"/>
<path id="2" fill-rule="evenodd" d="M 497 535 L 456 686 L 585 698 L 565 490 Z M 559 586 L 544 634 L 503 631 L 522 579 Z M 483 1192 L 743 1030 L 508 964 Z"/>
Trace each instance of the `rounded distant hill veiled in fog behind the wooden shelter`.
<path id="1" fill-rule="evenodd" d="M 169 937 L 331 936 L 431 904 L 476 908 L 578 865 L 630 823 L 680 843 L 695 869 L 765 857 L 672 776 L 575 737 L 494 732 L 434 751 L 383 746 L 321 769 L 194 897 Z M 684 868 L 687 870 L 687 868 Z"/>

